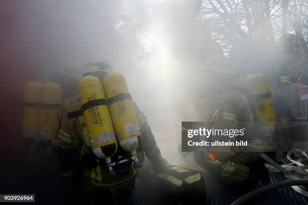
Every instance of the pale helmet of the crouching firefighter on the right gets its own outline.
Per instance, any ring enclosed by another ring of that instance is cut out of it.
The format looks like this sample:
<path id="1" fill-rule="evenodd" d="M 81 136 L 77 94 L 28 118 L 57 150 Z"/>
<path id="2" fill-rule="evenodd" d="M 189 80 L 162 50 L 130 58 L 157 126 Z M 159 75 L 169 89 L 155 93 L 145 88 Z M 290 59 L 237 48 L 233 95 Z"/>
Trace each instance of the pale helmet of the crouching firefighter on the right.
<path id="1" fill-rule="evenodd" d="M 215 75 L 230 75 L 234 78 L 239 78 L 239 74 L 235 74 L 233 66 L 229 59 L 224 55 L 209 56 L 205 62 L 202 70 Z"/>

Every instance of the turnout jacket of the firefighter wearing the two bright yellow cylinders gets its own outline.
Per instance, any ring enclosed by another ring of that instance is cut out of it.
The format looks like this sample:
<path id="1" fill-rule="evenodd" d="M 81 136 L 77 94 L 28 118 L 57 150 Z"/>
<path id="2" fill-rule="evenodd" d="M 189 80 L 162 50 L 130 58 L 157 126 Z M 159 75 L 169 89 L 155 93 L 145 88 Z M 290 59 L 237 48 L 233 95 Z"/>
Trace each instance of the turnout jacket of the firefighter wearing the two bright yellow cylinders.
<path id="1" fill-rule="evenodd" d="M 143 154 L 145 154 L 145 156 L 153 163 L 153 167 L 162 166 L 163 161 L 161 158 L 160 149 L 157 146 L 155 137 L 151 132 L 146 118 L 139 110 L 135 102 L 133 102 L 133 107 L 142 136 L 141 139 L 139 139 L 137 156 L 142 162 L 144 156 Z M 68 109 L 67 113 L 78 110 L 81 110 L 80 101 L 77 101 L 74 105 L 72 105 L 72 107 Z M 85 158 L 86 161 L 89 161 L 86 156 L 93 154 L 84 116 L 69 119 L 67 117 L 67 113 L 64 115 L 57 138 L 58 163 L 61 174 L 64 177 L 74 175 L 75 170 L 78 169 L 80 158 L 81 161 L 83 161 L 83 158 Z M 118 151 L 119 149 L 121 148 L 118 144 Z M 105 160 L 102 159 L 101 161 L 102 164 L 100 165 L 83 167 L 86 181 L 98 188 L 112 189 L 123 186 L 131 182 L 138 173 L 138 170 L 135 169 L 133 163 L 131 163 L 127 173 L 118 174 L 117 176 L 109 176 L 108 168 L 105 166 Z"/>

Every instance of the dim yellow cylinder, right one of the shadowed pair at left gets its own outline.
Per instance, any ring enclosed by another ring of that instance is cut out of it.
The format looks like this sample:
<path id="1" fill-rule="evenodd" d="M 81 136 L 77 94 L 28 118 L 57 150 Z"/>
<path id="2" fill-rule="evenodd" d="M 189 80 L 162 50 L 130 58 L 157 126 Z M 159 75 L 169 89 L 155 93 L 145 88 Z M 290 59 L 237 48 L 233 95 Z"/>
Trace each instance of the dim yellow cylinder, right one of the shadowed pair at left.
<path id="1" fill-rule="evenodd" d="M 40 93 L 40 139 L 54 140 L 60 127 L 61 88 L 57 83 L 43 84 Z"/>

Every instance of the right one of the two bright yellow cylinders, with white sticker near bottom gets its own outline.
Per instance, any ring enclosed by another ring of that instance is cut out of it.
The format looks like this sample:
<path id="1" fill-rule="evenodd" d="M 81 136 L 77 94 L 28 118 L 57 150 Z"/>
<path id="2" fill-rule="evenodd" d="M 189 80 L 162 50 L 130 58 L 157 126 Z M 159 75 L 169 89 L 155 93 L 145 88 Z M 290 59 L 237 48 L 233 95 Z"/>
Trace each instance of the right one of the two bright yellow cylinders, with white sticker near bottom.
<path id="1" fill-rule="evenodd" d="M 117 140 L 122 149 L 136 156 L 136 150 L 138 149 L 137 137 L 141 136 L 141 132 L 126 80 L 121 73 L 108 73 L 103 78 L 103 87 L 108 99 Z"/>

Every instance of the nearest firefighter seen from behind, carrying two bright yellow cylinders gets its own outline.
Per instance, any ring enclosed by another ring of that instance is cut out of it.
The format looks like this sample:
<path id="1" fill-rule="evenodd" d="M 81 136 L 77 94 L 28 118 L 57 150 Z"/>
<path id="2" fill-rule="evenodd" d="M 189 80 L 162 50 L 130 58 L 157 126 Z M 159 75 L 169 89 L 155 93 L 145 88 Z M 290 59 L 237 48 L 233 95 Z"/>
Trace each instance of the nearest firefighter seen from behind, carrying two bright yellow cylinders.
<path id="1" fill-rule="evenodd" d="M 105 62 L 86 64 L 78 83 L 80 100 L 67 111 L 58 135 L 62 176 L 73 177 L 80 165 L 88 202 L 114 202 L 110 189 L 117 189 L 119 200 L 128 202 L 143 154 L 153 169 L 165 167 L 124 77 L 109 71 L 112 67 Z"/>

